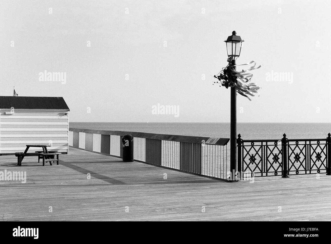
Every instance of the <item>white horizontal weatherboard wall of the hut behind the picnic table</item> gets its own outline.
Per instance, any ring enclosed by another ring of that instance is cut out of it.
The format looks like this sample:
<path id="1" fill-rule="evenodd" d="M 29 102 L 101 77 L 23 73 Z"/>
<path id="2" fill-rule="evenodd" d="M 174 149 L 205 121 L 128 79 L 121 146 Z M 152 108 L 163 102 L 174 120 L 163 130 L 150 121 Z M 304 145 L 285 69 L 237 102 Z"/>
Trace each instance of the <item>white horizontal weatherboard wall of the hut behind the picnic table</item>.
<path id="1" fill-rule="evenodd" d="M 48 150 L 68 152 L 68 115 L 54 111 L 0 112 L 0 153 L 23 152 L 27 144 L 50 144 Z M 31 147 L 28 152 L 41 150 Z"/>

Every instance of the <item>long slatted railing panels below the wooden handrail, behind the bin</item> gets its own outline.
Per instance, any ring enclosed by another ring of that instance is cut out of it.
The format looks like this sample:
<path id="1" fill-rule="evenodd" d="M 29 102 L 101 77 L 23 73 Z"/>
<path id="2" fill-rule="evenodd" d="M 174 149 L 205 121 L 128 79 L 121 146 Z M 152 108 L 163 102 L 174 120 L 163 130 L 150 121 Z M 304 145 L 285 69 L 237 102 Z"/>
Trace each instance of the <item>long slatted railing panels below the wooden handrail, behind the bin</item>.
<path id="1" fill-rule="evenodd" d="M 96 130 L 70 130 L 69 143 L 71 146 L 118 157 L 122 156 L 121 139 L 124 135 L 123 132 L 114 132 L 117 135 L 110 135 L 110 131 L 102 131 L 105 134 L 101 134 L 102 132 Z M 228 139 L 224 139 L 225 144 L 222 145 L 202 143 L 206 142 L 208 138 L 183 136 L 183 140 L 186 142 L 181 142 L 181 136 L 176 136 L 176 140 L 174 140 L 172 135 L 146 135 L 148 133 L 137 132 L 132 132 L 132 134 L 134 160 L 198 175 L 226 179 L 227 171 L 230 169 L 226 145 Z M 171 138 L 171 140 L 163 140 L 162 137 Z M 194 142 L 187 142 L 190 140 Z"/>

